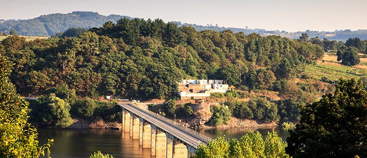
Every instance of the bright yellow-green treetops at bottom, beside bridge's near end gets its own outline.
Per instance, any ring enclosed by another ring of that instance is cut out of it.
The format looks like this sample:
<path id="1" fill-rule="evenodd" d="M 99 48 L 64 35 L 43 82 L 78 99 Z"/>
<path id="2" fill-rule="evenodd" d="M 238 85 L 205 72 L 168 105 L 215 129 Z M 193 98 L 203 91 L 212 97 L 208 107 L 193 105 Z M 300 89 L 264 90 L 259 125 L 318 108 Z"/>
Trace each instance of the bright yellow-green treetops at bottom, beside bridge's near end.
<path id="1" fill-rule="evenodd" d="M 259 132 L 248 132 L 239 140 L 224 141 L 223 137 L 200 144 L 193 158 L 289 158 L 286 143 L 276 132 L 268 132 L 265 141 Z"/>

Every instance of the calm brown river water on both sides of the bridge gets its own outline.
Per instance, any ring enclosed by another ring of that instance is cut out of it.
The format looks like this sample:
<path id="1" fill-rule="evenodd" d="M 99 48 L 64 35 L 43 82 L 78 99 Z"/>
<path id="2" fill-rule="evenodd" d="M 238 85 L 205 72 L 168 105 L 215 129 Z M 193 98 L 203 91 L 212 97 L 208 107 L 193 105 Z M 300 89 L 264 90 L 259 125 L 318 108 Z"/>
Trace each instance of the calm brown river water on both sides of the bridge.
<path id="1" fill-rule="evenodd" d="M 249 130 L 259 131 L 263 135 L 273 129 L 199 129 L 200 132 L 215 138 L 240 138 Z M 283 129 L 274 129 L 285 140 L 288 132 Z M 121 130 L 110 129 L 38 129 L 40 144 L 52 138 L 52 158 L 89 158 L 93 152 L 100 150 L 115 158 L 150 158 L 150 149 L 139 147 L 138 140 L 132 140 L 129 133 L 123 134 Z"/>

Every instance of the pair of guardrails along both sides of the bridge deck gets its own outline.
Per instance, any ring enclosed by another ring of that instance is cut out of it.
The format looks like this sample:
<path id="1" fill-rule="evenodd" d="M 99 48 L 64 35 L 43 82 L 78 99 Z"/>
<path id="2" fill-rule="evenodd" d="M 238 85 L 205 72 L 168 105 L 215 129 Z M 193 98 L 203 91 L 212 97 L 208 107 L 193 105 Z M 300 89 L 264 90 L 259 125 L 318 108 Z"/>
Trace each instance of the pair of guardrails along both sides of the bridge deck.
<path id="1" fill-rule="evenodd" d="M 126 105 L 126 103 L 122 103 L 122 104 L 125 104 L 125 105 Z M 130 105 L 133 105 L 133 104 L 130 104 Z M 139 109 L 140 111 L 142 111 L 142 112 L 144 112 L 144 113 L 146 113 L 146 114 L 149 114 L 150 116 L 153 116 L 153 117 L 158 118 L 159 120 L 161 120 L 161 121 L 163 121 L 163 122 L 165 122 L 165 123 L 167 123 L 167 124 L 169 124 L 169 125 L 171 125 L 171 126 L 175 126 L 175 127 L 179 128 L 179 129 L 182 129 L 185 133 L 190 134 L 190 135 L 192 135 L 192 136 L 196 137 L 196 138 L 197 138 L 197 139 L 199 139 L 202 143 L 207 144 L 209 141 L 212 141 L 212 140 L 213 140 L 212 138 L 210 138 L 210 137 L 208 137 L 208 136 L 206 136 L 206 135 L 204 135 L 204 134 L 202 134 L 202 133 L 200 133 L 200 132 L 198 132 L 198 131 L 195 131 L 195 130 L 193 130 L 193 129 L 190 129 L 190 128 L 188 128 L 188 127 L 185 127 L 183 124 L 180 124 L 180 123 L 178 123 L 178 122 L 175 122 L 175 121 L 174 121 L 174 120 L 172 120 L 172 119 L 168 119 L 168 118 L 163 117 L 163 116 L 161 116 L 161 115 L 157 115 L 157 113 L 153 113 L 153 112 L 151 112 L 151 111 L 149 111 L 149 110 L 142 109 L 142 108 L 140 108 L 140 107 L 138 107 L 138 106 L 134 106 L 134 107 L 136 107 L 137 109 Z M 124 108 L 125 108 L 125 107 L 124 107 Z M 132 113 L 133 113 L 133 112 L 132 112 Z M 135 114 L 135 115 L 137 115 L 137 114 Z M 149 121 L 147 118 L 144 118 L 144 116 L 140 116 L 140 117 L 142 117 L 143 119 L 145 119 L 145 120 Z M 176 134 L 176 133 L 171 132 L 169 129 L 164 128 L 164 127 L 161 127 L 161 126 L 159 126 L 158 124 L 156 124 L 156 123 L 154 123 L 154 122 L 150 122 L 150 123 L 151 123 L 151 124 L 153 124 L 154 126 L 157 126 L 157 127 L 158 127 L 158 128 L 160 128 L 160 129 L 165 130 L 167 133 L 171 134 L 172 136 L 175 136 L 176 138 L 181 139 L 181 140 L 182 140 L 182 141 L 184 141 L 186 144 L 189 144 L 190 146 L 192 146 L 192 147 L 194 147 L 194 148 L 196 148 L 196 149 L 198 148 L 198 145 L 194 144 L 193 142 L 190 142 L 189 140 L 184 139 L 183 137 L 181 137 L 180 135 L 178 135 L 178 134 Z M 201 142 L 199 142 L 199 143 L 201 143 Z"/>

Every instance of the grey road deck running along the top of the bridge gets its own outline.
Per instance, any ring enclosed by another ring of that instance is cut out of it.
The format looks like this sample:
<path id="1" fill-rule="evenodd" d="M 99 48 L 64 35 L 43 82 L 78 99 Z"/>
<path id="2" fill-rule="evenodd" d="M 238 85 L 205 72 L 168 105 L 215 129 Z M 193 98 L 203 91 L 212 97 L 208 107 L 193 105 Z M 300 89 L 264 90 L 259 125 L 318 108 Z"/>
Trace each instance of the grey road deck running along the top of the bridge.
<path id="1" fill-rule="evenodd" d="M 200 133 L 198 134 L 202 136 L 199 136 L 198 134 L 194 134 L 194 132 L 196 131 L 193 131 L 192 129 L 176 126 L 174 125 L 173 122 L 157 117 L 156 115 L 154 115 L 155 113 L 140 109 L 130 103 L 128 104 L 119 103 L 119 105 L 123 107 L 124 109 L 132 112 L 134 115 L 137 115 L 138 117 L 141 117 L 144 120 L 148 121 L 150 124 L 155 125 L 159 129 L 165 130 L 165 132 L 180 139 L 184 143 L 189 144 L 190 146 L 194 147 L 195 149 L 198 148 L 200 143 L 206 145 L 208 143 L 208 139 L 211 140 L 211 138 L 205 135 L 202 135 Z"/>

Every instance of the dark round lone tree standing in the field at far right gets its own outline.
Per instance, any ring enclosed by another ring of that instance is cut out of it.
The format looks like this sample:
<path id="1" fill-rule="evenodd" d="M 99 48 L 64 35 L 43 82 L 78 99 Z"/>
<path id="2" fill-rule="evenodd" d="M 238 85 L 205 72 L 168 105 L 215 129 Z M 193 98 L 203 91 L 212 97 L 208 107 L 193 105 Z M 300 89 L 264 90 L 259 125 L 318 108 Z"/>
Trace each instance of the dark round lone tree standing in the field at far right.
<path id="1" fill-rule="evenodd" d="M 343 46 L 338 50 L 336 55 L 338 56 L 337 60 L 342 60 L 341 64 L 343 65 L 353 66 L 361 62 L 358 56 L 358 50 L 355 47 Z"/>

